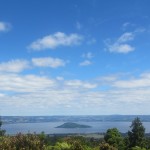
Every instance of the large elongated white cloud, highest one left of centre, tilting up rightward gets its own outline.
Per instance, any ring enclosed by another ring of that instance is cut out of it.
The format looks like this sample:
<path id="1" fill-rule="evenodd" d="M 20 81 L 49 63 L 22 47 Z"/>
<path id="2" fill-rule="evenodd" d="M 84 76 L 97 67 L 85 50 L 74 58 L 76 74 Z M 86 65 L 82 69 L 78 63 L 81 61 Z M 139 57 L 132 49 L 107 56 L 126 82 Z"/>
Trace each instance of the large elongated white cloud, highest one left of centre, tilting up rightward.
<path id="1" fill-rule="evenodd" d="M 75 33 L 67 35 L 62 32 L 56 32 L 34 41 L 29 48 L 33 50 L 54 49 L 59 46 L 78 45 L 82 40 L 83 37 Z"/>

